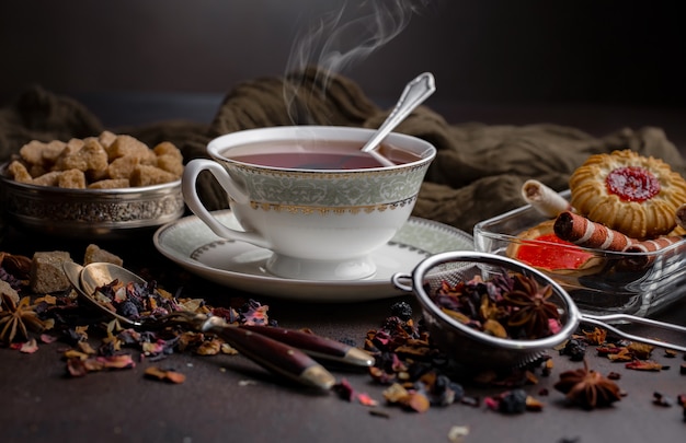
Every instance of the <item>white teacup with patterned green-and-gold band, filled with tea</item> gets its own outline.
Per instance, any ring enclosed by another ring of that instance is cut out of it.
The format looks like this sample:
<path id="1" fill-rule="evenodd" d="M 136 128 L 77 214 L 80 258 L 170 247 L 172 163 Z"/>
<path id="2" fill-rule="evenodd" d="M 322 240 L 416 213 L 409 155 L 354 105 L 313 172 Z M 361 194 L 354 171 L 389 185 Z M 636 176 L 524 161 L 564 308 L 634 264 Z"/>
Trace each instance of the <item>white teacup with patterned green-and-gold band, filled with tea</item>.
<path id="1" fill-rule="evenodd" d="M 214 160 L 186 165 L 184 200 L 220 237 L 271 249 L 266 268 L 275 276 L 370 277 L 376 271 L 371 252 L 407 222 L 436 155 L 431 143 L 400 133 L 389 135 L 371 154 L 361 152 L 373 133 L 295 126 L 218 137 L 207 145 Z M 196 190 L 203 171 L 226 189 L 244 232 L 227 228 L 203 206 Z"/>

